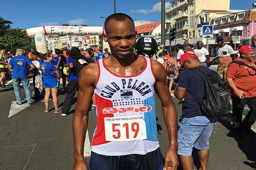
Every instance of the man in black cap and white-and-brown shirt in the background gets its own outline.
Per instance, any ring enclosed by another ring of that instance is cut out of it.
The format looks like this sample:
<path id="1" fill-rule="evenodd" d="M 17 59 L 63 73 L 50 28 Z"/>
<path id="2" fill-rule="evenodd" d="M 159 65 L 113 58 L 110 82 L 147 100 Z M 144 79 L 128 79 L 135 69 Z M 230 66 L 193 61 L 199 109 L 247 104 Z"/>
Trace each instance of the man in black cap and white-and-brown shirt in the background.
<path id="1" fill-rule="evenodd" d="M 216 48 L 216 54 L 218 55 L 218 68 L 217 72 L 222 79 L 225 79 L 227 72 L 227 66 L 232 62 L 232 58 L 235 54 L 233 48 L 230 45 L 224 44 L 223 37 L 217 37 L 216 39 L 218 47 Z"/>

